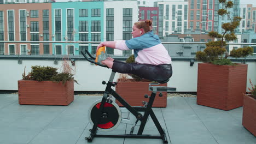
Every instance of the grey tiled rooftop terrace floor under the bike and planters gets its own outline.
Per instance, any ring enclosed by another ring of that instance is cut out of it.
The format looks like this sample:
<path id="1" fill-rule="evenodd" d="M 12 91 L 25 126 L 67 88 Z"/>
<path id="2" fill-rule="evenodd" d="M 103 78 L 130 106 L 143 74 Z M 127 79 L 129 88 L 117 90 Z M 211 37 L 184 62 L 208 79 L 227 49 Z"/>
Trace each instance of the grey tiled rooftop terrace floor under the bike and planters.
<path id="1" fill-rule="evenodd" d="M 88 109 L 102 96 L 75 95 L 68 106 L 19 105 L 18 94 L 0 94 L 0 143 L 88 143 L 92 126 Z M 230 111 L 196 104 L 195 97 L 168 97 L 166 108 L 153 108 L 167 133 L 168 143 L 254 144 L 256 137 L 242 126 L 242 107 Z M 120 124 L 111 134 L 129 133 L 131 125 Z M 135 133 L 136 133 L 135 129 Z M 150 119 L 143 134 L 158 134 Z M 157 139 L 96 137 L 92 143 L 162 143 Z"/>

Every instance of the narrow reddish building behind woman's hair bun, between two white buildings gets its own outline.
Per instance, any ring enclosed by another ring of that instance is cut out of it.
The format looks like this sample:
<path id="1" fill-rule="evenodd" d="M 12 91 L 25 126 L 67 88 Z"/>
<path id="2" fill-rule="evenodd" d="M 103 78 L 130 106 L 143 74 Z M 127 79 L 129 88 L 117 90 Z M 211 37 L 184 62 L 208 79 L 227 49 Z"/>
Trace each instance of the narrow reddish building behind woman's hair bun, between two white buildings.
<path id="1" fill-rule="evenodd" d="M 139 21 L 152 20 L 152 31 L 158 34 L 158 7 L 139 7 Z"/>

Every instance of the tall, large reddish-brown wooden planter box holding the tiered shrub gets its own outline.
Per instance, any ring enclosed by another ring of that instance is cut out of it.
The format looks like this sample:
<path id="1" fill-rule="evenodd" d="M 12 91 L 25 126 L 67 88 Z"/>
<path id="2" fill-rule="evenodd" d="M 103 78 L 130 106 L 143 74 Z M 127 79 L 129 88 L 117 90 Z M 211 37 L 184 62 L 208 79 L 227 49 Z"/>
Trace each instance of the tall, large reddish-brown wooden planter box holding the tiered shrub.
<path id="1" fill-rule="evenodd" d="M 241 107 L 246 83 L 247 64 L 230 66 L 199 63 L 197 104 L 222 110 Z"/>

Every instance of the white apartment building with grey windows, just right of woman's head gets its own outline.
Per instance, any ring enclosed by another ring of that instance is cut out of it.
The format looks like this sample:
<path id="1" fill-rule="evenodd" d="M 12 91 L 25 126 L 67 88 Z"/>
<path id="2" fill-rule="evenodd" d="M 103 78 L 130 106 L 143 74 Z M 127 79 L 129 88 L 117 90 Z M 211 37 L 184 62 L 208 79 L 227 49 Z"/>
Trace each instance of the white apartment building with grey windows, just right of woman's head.
<path id="1" fill-rule="evenodd" d="M 188 2 L 154 2 L 159 7 L 159 37 L 165 37 L 173 32 L 184 33 L 188 29 Z"/>

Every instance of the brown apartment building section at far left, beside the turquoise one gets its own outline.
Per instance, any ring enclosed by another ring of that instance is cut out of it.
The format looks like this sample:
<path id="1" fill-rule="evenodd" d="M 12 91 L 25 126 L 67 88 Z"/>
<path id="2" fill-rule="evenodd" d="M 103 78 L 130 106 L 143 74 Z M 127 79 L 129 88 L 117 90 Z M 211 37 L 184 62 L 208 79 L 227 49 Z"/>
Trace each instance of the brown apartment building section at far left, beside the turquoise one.
<path id="1" fill-rule="evenodd" d="M 4 6 L 4 7 L 3 7 Z M 51 55 L 51 3 L 1 4 L 0 40 L 34 41 L 34 43 L 1 43 L 4 55 Z"/>

